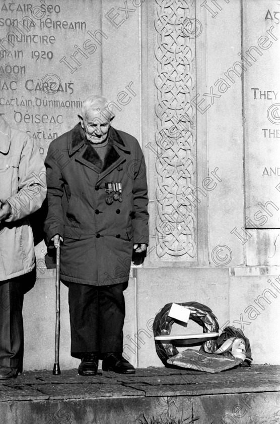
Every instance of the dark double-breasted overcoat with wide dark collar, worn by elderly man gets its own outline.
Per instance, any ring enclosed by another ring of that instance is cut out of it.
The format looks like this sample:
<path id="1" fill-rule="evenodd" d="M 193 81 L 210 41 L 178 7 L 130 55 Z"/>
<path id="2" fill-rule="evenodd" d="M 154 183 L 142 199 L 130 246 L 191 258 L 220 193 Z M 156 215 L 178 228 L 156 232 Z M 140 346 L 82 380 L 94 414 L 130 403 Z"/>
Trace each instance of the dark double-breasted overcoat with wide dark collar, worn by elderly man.
<path id="1" fill-rule="evenodd" d="M 53 140 L 45 160 L 46 242 L 61 244 L 61 279 L 94 286 L 128 281 L 134 243 L 148 244 L 143 152 L 131 135 L 109 129 L 104 164 L 81 125 Z M 122 184 L 122 202 L 106 203 L 105 183 Z"/>

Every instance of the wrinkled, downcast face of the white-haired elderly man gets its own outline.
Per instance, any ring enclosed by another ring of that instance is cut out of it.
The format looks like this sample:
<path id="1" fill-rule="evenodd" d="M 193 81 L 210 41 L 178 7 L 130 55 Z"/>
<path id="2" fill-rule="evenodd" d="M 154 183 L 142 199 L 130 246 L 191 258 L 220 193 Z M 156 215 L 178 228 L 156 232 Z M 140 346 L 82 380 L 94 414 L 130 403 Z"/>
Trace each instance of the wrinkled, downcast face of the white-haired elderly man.
<path id="1" fill-rule="evenodd" d="M 88 111 L 84 118 L 79 115 L 79 119 L 89 141 L 98 144 L 106 140 L 110 129 L 109 119 L 97 111 Z"/>

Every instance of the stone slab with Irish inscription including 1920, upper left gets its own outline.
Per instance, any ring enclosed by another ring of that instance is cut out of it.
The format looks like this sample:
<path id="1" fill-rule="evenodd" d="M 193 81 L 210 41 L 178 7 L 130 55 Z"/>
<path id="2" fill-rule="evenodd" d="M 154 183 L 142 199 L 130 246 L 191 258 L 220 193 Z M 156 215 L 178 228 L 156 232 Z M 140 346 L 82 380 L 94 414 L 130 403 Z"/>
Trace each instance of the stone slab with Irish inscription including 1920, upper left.
<path id="1" fill-rule="evenodd" d="M 0 1 L 0 114 L 36 140 L 78 122 L 83 98 L 101 92 L 101 2 Z"/>

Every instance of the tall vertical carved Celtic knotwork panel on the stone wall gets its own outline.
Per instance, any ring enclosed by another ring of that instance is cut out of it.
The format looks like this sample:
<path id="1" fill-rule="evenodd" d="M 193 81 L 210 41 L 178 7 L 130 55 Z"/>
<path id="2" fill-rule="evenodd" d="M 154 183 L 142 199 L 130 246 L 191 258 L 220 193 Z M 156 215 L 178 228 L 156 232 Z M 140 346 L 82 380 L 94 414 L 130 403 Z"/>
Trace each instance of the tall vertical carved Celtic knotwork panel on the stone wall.
<path id="1" fill-rule="evenodd" d="M 190 99 L 195 91 L 195 40 L 182 30 L 184 21 L 195 16 L 194 2 L 156 4 L 157 254 L 164 260 L 180 256 L 194 261 L 196 201 L 190 193 L 196 187 L 196 140 Z"/>

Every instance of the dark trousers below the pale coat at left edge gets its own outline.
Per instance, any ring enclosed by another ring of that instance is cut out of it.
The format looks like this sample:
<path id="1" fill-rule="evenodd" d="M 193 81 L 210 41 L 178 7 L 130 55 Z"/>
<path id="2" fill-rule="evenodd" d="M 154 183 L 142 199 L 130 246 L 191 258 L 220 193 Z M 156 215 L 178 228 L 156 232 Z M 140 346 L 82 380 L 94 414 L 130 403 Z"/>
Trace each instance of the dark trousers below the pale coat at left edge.
<path id="1" fill-rule="evenodd" d="M 24 294 L 36 281 L 36 270 L 0 282 L 0 365 L 22 372 Z"/>

